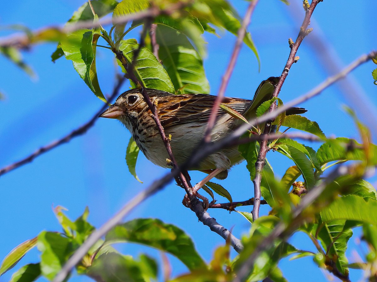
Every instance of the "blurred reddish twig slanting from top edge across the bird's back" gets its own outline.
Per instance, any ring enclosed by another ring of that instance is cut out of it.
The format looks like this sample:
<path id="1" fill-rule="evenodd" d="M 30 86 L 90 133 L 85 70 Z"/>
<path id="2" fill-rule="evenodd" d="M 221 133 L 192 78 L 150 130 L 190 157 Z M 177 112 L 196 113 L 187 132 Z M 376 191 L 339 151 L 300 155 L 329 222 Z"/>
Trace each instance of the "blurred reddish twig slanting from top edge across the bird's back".
<path id="1" fill-rule="evenodd" d="M 222 98 L 224 98 L 225 89 L 228 86 L 234 66 L 236 65 L 238 54 L 239 54 L 239 51 L 241 50 L 242 42 L 244 41 L 244 37 L 246 34 L 246 28 L 250 23 L 251 14 L 253 14 L 253 11 L 254 11 L 255 6 L 257 5 L 257 2 L 258 0 L 253 0 L 250 2 L 247 8 L 244 20 L 242 21 L 241 28 L 239 28 L 238 30 L 236 44 L 234 45 L 233 52 L 232 52 L 227 70 L 225 71 L 225 74 L 222 77 L 219 92 L 212 106 L 211 115 L 208 118 L 207 129 L 205 130 L 205 134 L 204 134 L 204 141 L 207 143 L 211 141 L 211 130 L 215 126 L 217 110 L 219 109 Z"/>

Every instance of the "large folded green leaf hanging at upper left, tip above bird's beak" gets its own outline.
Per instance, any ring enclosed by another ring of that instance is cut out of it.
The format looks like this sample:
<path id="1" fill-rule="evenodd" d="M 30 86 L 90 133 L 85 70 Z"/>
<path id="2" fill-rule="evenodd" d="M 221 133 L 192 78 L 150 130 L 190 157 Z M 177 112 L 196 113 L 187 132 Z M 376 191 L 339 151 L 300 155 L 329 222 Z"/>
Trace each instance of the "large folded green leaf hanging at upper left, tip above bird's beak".
<path id="1" fill-rule="evenodd" d="M 72 60 L 75 70 L 89 86 L 90 90 L 102 101 L 105 97 L 98 84 L 97 72 L 95 69 L 95 45 L 98 35 L 87 29 L 78 30 L 70 34 L 66 40 L 61 41 L 61 48 L 67 60 Z M 93 49 L 94 48 L 94 49 Z"/>

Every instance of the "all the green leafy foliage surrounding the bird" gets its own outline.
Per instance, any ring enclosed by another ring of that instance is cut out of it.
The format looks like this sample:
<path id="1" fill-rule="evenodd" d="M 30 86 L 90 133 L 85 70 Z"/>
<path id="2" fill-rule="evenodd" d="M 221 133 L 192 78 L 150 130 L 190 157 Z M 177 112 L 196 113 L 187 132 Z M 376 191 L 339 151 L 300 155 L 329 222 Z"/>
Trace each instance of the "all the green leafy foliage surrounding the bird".
<path id="1" fill-rule="evenodd" d="M 179 3 L 181 6 L 178 9 L 174 8 Z M 129 15 L 142 14 L 149 9 L 160 9 L 164 12 L 156 17 L 140 16 L 132 21 L 124 20 Z M 104 47 L 113 52 L 126 75 L 128 68 L 133 66 L 136 78 L 144 87 L 172 93 L 209 93 L 210 87 L 203 66 L 206 54 L 203 34 L 217 34 L 217 29 L 225 29 L 236 35 L 241 27 L 238 12 L 231 6 L 231 2 L 226 0 L 92 0 L 74 12 L 67 26 L 83 20 L 98 22 L 107 14 L 112 14 L 114 24 L 109 31 L 102 26 L 79 29 L 69 34 L 53 28 L 43 29 L 34 34 L 27 31 L 29 41 L 25 44 L 57 42 L 57 49 L 51 56 L 52 61 L 63 55 L 67 60 L 71 60 L 75 71 L 103 101 L 106 101 L 106 98 L 101 92 L 95 65 L 97 47 Z M 156 24 L 155 34 L 146 34 L 145 41 L 127 37 L 133 29 L 140 26 L 145 29 L 145 25 L 149 24 Z M 152 43 L 152 36 L 155 36 L 158 49 Z M 106 46 L 99 45 L 103 42 Z M 254 52 L 259 64 L 256 47 L 249 33 L 246 34 L 244 43 Z M 28 74 L 33 74 L 16 47 L 1 47 L 0 52 Z M 138 55 L 137 58 L 135 54 Z M 376 82 L 377 69 L 372 75 Z M 136 86 L 133 81 L 130 82 Z M 272 84 L 261 84 L 257 93 L 272 93 L 273 90 Z M 277 98 L 256 101 L 247 114 L 261 116 L 274 102 L 277 102 L 279 107 L 283 105 Z M 245 121 L 245 117 L 234 113 L 230 108 L 222 105 L 222 109 L 234 118 Z M 278 263 L 280 259 L 293 254 L 292 259 L 312 256 L 319 267 L 344 281 L 349 280 L 349 268 L 363 269 L 365 277 L 375 281 L 377 199 L 374 187 L 364 178 L 366 172 L 377 164 L 377 147 L 370 143 L 368 129 L 350 110 L 347 111 L 355 120 L 361 142 L 341 137 L 327 138 L 315 121 L 300 115 L 282 113 L 276 118 L 272 127 L 274 133 L 285 132 L 289 128 L 302 130 L 318 136 L 322 140 L 322 145 L 315 151 L 292 139 L 278 139 L 268 143 L 269 150 L 291 159 L 294 165 L 286 168 L 285 174 L 277 178 L 273 168 L 266 161 L 262 171 L 261 192 L 271 207 L 270 214 L 253 221 L 250 213 L 240 212 L 247 219 L 246 222 L 252 224 L 250 233 L 242 238 L 244 250 L 235 258 L 230 257 L 230 245 L 227 242 L 216 248 L 213 259 L 206 263 L 183 230 L 158 219 L 134 219 L 116 225 L 107 233 L 104 240 L 98 241 L 80 264 L 76 265 L 77 274 L 106 282 L 156 280 L 159 275 L 159 264 L 155 258 L 146 254 L 139 254 L 138 257 L 122 254 L 112 247 L 114 243 L 132 242 L 170 253 L 187 266 L 188 273 L 171 279 L 168 277 L 170 281 L 231 281 L 256 248 L 273 233 L 275 227 L 284 225 L 287 238 L 294 232 L 303 232 L 313 242 L 317 252 L 300 250 L 282 238 L 273 238 L 268 248 L 259 254 L 250 267 L 247 281 L 259 281 L 266 277 L 276 282 L 286 281 L 278 268 Z M 257 126 L 246 135 L 261 132 L 262 128 Z M 247 161 L 251 180 L 255 177 L 259 146 L 258 142 L 239 146 L 241 155 Z M 131 139 L 127 147 L 126 162 L 130 173 L 136 179 L 138 177 L 135 165 L 138 152 L 138 147 Z M 336 179 L 329 181 L 329 171 L 345 162 L 348 164 L 349 173 L 338 175 Z M 300 177 L 303 182 L 297 181 Z M 299 216 L 293 216 L 307 192 L 310 193 L 323 183 L 326 185 L 321 195 L 305 207 Z M 204 189 L 212 198 L 215 197 L 215 192 L 229 202 L 233 201 L 227 189 L 219 184 L 208 182 Z M 87 208 L 75 221 L 66 216 L 62 207 L 56 207 L 54 211 L 62 230 L 42 231 L 37 237 L 15 247 L 3 260 L 0 275 L 17 265 L 29 250 L 37 246 L 40 261 L 20 267 L 13 274 L 11 281 L 29 282 L 38 277 L 52 280 L 67 259 L 95 230 L 87 221 Z M 352 236 L 352 229 L 360 226 L 363 229 L 362 240 L 365 241 L 368 252 L 363 262 L 348 264 L 345 255 L 348 240 Z"/>

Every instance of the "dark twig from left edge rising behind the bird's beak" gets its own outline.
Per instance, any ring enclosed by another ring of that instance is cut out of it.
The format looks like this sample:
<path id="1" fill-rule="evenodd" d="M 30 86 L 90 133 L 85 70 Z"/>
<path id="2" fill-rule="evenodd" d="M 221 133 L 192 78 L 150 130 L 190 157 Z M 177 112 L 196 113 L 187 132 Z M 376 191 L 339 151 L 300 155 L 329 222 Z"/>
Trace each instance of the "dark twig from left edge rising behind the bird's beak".
<path id="1" fill-rule="evenodd" d="M 119 89 L 122 86 L 124 80 L 125 80 L 125 78 L 123 76 L 118 76 L 118 82 L 116 83 L 116 85 L 113 89 L 113 92 L 112 92 L 111 96 L 109 97 L 108 101 L 112 101 L 119 94 L 118 93 Z M 23 166 L 24 164 L 28 164 L 29 162 L 32 162 L 35 158 L 37 158 L 41 154 L 46 153 L 49 150 L 52 150 L 52 149 L 60 146 L 61 144 L 69 142 L 72 138 L 83 135 L 84 133 L 86 133 L 86 131 L 90 127 L 92 127 L 94 125 L 94 123 L 98 120 L 98 115 L 100 115 L 107 107 L 108 107 L 108 105 L 105 103 L 100 108 L 100 110 L 98 110 L 98 112 L 96 112 L 87 123 L 83 124 L 82 126 L 78 127 L 77 129 L 73 130 L 71 133 L 67 134 L 63 138 L 60 138 L 60 139 L 58 139 L 58 140 L 56 140 L 56 141 L 54 141 L 54 142 L 52 142 L 52 143 L 50 143 L 46 146 L 40 147 L 34 153 L 32 153 L 31 155 L 21 159 L 18 162 L 14 162 L 13 164 L 11 164 L 9 166 L 3 167 L 2 169 L 0 169 L 0 176 L 5 174 L 5 173 L 10 172 L 11 170 L 17 169 L 18 167 Z"/>

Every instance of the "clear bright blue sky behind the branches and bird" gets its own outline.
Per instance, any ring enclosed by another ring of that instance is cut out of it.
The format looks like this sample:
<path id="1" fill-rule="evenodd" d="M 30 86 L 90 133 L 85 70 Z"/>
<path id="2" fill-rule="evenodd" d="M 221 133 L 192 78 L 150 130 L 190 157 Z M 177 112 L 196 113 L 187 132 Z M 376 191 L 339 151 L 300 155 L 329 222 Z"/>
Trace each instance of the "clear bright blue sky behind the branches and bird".
<path id="1" fill-rule="evenodd" d="M 18 1 L 17 7 L 12 2 L 2 4 L 0 26 L 15 23 L 31 29 L 47 25 L 63 24 L 83 2 L 77 0 L 41 0 L 36 2 Z M 246 11 L 248 2 L 232 1 L 241 15 Z M 261 71 L 253 53 L 243 47 L 238 63 L 230 80 L 225 95 L 229 97 L 252 98 L 260 81 L 270 76 L 279 76 L 289 54 L 288 38 L 296 38 L 303 19 L 301 1 L 291 1 L 290 6 L 280 1 L 260 1 L 254 11 L 249 31 L 261 58 Z M 329 48 L 339 56 L 342 65 L 348 64 L 362 54 L 377 48 L 375 35 L 377 3 L 324 1 L 320 3 L 312 17 L 313 34 L 322 37 Z M 7 35 L 1 31 L 0 35 Z M 220 32 L 221 38 L 207 34 L 208 57 L 205 59 L 205 71 L 211 86 L 211 94 L 216 95 L 221 76 L 227 67 L 230 52 L 236 38 L 226 32 Z M 135 35 L 138 37 L 138 35 Z M 311 36 L 311 35 L 310 35 Z M 314 35 L 313 35 L 314 36 Z M 72 63 L 64 58 L 55 64 L 50 55 L 55 44 L 40 44 L 23 52 L 25 60 L 32 66 L 38 78 L 31 79 L 14 64 L 0 57 L 0 91 L 5 100 L 0 101 L 0 167 L 34 152 L 41 146 L 58 139 L 85 123 L 101 107 L 101 101 L 93 95 L 74 71 Z M 113 56 L 106 49 L 97 51 L 97 69 L 100 85 L 104 93 L 110 93 L 114 83 L 115 66 Z M 314 51 L 307 38 L 297 55 L 300 60 L 291 68 L 279 97 L 283 101 L 307 92 L 323 81 L 328 73 L 318 57 L 323 50 Z M 333 55 L 334 56 L 334 55 Z M 367 63 L 352 72 L 346 78 L 356 81 L 365 98 L 362 107 L 356 107 L 352 99 L 347 98 L 339 87 L 331 86 L 319 97 L 300 106 L 308 109 L 307 118 L 317 121 L 328 136 L 346 136 L 358 138 L 352 120 L 342 110 L 346 104 L 372 127 L 375 120 L 370 112 L 376 113 L 376 90 L 371 71 L 376 66 Z M 123 91 L 129 89 L 125 84 Z M 356 95 L 356 93 L 355 93 Z M 373 112 L 374 111 L 374 112 Z M 372 132 L 376 136 L 377 132 Z M 85 206 L 89 206 L 89 221 L 96 227 L 103 224 L 126 201 L 140 190 L 147 187 L 153 179 L 167 170 L 156 167 L 144 156 L 140 156 L 136 166 L 139 178 L 137 182 L 127 170 L 124 155 L 130 133 L 114 121 L 100 119 L 86 135 L 75 138 L 51 152 L 48 152 L 31 164 L 27 164 L 0 177 L 0 259 L 21 242 L 36 236 L 42 230 L 60 230 L 52 212 L 52 205 L 62 205 L 69 211 L 70 218 L 81 215 Z M 307 143 L 317 149 L 318 144 Z M 285 169 L 293 163 L 279 155 L 269 153 L 277 176 L 282 176 Z M 193 172 L 192 182 L 199 181 L 202 173 Z M 370 179 L 374 184 L 375 177 Z M 253 196 L 253 185 L 248 177 L 245 163 L 234 167 L 228 178 L 219 182 L 228 189 L 234 201 L 242 201 Z M 198 222 L 195 214 L 182 206 L 184 191 L 173 183 L 162 192 L 148 199 L 136 208 L 127 219 L 144 217 L 159 218 L 184 229 L 194 240 L 202 257 L 208 261 L 216 246 L 223 244 L 223 239 Z M 226 201 L 217 197 L 219 202 Z M 161 204 L 160 204 L 161 203 Z M 250 207 L 242 208 L 250 211 Z M 247 233 L 249 224 L 242 216 L 225 210 L 210 210 L 227 228 L 233 228 L 237 237 Z M 262 207 L 266 214 L 268 208 Z M 357 234 L 360 234 L 356 230 Z M 356 245 L 356 237 L 350 240 L 349 259 L 354 252 L 362 253 Z M 294 234 L 290 242 L 298 248 L 314 251 L 314 246 L 302 234 Z M 138 254 L 147 251 L 157 259 L 160 254 L 135 244 L 119 245 L 124 253 Z M 38 260 L 38 252 L 32 251 L 25 256 L 20 265 Z M 169 256 L 173 264 L 173 275 L 186 271 L 184 265 Z M 311 258 L 288 261 L 279 265 L 289 281 L 318 281 L 326 279 L 322 271 Z M 15 268 L 18 269 L 18 266 Z M 10 273 L 0 280 L 8 281 Z M 308 273 L 310 276 L 308 277 Z M 351 280 L 360 279 L 359 271 L 351 272 Z M 43 281 L 43 279 L 40 279 Z M 72 281 L 89 281 L 89 278 L 75 277 Z"/>

